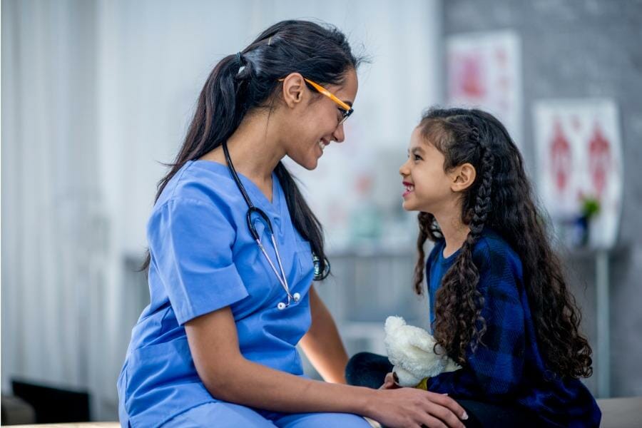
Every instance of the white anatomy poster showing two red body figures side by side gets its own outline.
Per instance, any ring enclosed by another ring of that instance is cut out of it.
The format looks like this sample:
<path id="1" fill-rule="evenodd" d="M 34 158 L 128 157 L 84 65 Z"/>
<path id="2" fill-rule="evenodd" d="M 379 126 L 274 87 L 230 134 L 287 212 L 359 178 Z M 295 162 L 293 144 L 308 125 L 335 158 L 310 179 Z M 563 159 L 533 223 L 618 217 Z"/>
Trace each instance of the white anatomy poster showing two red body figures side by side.
<path id="1" fill-rule="evenodd" d="M 537 184 L 551 218 L 588 222 L 592 248 L 611 248 L 618 235 L 622 204 L 622 152 L 616 104 L 608 99 L 549 100 L 534 103 Z"/>

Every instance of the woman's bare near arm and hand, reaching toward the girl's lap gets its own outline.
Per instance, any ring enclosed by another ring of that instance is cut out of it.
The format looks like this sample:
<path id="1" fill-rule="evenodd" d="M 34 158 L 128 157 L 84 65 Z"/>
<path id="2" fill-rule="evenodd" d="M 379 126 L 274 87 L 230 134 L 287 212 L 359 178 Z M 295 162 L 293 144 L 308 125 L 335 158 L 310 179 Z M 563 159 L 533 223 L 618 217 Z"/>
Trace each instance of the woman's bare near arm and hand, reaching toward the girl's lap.
<path id="1" fill-rule="evenodd" d="M 454 400 L 420 389 L 368 389 L 272 370 L 241 355 L 230 307 L 185 324 L 200 379 L 213 397 L 276 412 L 345 412 L 389 427 L 464 427 Z"/>

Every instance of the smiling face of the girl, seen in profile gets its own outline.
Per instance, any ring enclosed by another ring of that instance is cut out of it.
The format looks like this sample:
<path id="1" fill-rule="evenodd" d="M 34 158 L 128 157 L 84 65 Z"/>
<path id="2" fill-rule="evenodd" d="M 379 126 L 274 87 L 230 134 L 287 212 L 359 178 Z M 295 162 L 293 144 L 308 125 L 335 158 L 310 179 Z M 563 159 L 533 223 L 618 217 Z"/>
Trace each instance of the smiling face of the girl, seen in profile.
<path id="1" fill-rule="evenodd" d="M 399 168 L 404 185 L 404 210 L 435 213 L 455 197 L 452 176 L 444 171 L 444 155 L 424 141 L 419 128 L 410 138 L 408 160 Z"/>

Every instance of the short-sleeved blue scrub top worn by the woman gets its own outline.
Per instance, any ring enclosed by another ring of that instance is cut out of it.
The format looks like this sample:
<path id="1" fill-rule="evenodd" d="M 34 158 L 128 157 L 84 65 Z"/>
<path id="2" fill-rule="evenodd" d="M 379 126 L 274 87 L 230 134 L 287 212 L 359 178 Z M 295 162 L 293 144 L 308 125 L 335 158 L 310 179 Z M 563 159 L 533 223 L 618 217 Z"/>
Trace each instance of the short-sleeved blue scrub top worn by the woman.
<path id="1" fill-rule="evenodd" d="M 250 361 L 302 375 L 296 345 L 310 327 L 313 264 L 310 243 L 295 229 L 285 195 L 272 174 L 272 203 L 240 175 L 254 205 L 272 221 L 290 292 L 287 301 L 245 221 L 248 206 L 220 163 L 189 161 L 170 180 L 147 226 L 151 303 L 133 328 L 118 377 L 121 424 L 160 425 L 181 412 L 218 399 L 200 381 L 185 322 L 230 306 L 240 352 Z M 256 227 L 273 263 L 276 255 L 262 223 Z M 277 266 L 277 265 L 276 265 Z M 225 364 L 225 362 L 220 362 Z"/>

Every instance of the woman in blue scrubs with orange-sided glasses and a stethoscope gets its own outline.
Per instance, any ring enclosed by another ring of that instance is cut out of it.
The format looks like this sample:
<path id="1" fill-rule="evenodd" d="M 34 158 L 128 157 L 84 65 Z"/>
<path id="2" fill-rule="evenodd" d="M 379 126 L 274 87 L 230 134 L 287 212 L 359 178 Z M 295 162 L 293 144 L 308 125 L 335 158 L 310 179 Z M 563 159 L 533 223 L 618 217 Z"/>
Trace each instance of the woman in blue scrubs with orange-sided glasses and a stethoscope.
<path id="1" fill-rule="evenodd" d="M 463 427 L 448 397 L 345 385 L 311 286 L 329 269 L 322 230 L 281 160 L 312 170 L 343 141 L 359 62 L 334 27 L 282 21 L 210 73 L 148 222 L 123 427 Z M 304 376 L 299 343 L 327 382 Z"/>

